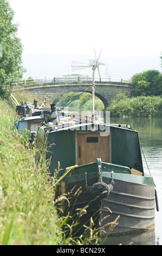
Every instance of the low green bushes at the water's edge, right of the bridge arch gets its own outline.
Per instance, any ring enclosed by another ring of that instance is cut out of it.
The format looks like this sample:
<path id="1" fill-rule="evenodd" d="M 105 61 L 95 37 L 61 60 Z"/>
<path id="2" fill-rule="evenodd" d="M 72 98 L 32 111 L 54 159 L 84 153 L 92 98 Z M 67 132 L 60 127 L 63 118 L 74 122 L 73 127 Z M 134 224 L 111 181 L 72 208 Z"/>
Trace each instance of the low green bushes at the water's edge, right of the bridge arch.
<path id="1" fill-rule="evenodd" d="M 108 107 L 111 117 L 161 117 L 162 97 L 137 96 L 132 99 L 124 96 L 115 99 Z"/>

